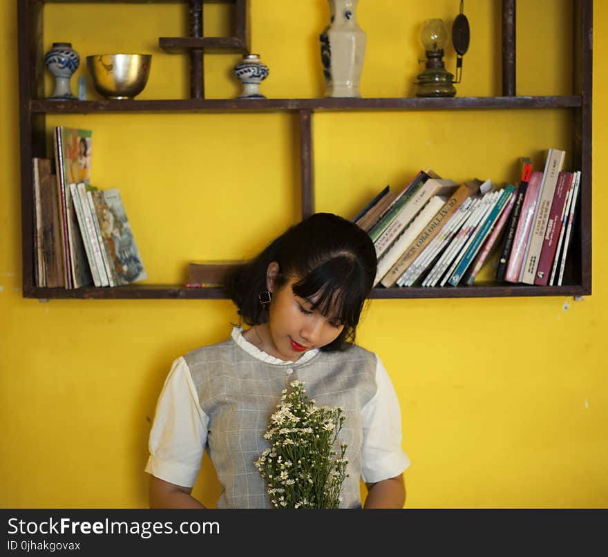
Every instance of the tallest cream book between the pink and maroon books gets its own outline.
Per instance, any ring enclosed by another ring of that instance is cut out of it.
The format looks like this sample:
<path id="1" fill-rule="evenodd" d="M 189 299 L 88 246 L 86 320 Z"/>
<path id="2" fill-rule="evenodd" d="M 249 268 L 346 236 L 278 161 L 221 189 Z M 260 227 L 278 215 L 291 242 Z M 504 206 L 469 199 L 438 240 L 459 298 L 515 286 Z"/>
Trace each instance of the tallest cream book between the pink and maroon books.
<path id="1" fill-rule="evenodd" d="M 551 211 L 551 203 L 553 202 L 553 193 L 555 193 L 555 186 L 558 182 L 558 174 L 564 164 L 564 155 L 564 151 L 559 149 L 549 149 L 549 155 L 547 155 L 547 168 L 540 186 L 530 242 L 524 259 L 522 283 L 525 284 L 534 284 L 544 233 L 549 221 L 549 211 Z"/>

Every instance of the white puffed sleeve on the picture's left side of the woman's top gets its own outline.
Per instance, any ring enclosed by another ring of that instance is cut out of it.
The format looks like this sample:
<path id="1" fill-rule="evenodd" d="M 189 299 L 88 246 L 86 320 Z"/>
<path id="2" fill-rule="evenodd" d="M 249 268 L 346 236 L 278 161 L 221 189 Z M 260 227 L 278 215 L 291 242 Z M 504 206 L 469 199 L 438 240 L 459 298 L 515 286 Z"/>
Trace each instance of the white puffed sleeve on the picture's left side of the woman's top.
<path id="1" fill-rule="evenodd" d="M 193 487 L 207 443 L 208 424 L 188 364 L 180 357 L 173 362 L 158 398 L 146 472 L 172 484 Z"/>

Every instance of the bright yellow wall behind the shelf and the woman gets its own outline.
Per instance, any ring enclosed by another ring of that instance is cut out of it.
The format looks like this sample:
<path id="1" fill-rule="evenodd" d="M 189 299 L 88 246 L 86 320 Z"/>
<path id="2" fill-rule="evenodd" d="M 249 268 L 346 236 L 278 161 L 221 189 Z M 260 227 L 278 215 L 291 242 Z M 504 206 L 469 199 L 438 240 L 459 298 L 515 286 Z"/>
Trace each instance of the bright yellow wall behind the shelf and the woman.
<path id="1" fill-rule="evenodd" d="M 323 95 L 326 2 L 251 3 L 252 50 L 270 68 L 263 93 Z M 227 301 L 21 297 L 15 4 L 3 0 L 0 11 L 0 506 L 145 507 L 147 436 L 171 361 L 227 337 L 235 312 Z M 520 94 L 570 92 L 560 46 L 569 15 L 555 5 L 569 2 L 517 2 Z M 411 95 L 420 21 L 453 19 L 458 6 L 362 0 L 363 95 Z M 206 34 L 222 33 L 224 7 L 205 9 Z M 500 1 L 467 1 L 466 10 L 472 43 L 458 94 L 500 94 Z M 608 4 L 595 10 L 598 29 Z M 140 98 L 186 95 L 185 58 L 158 49 L 158 37 L 184 32 L 179 6 L 53 4 L 45 30 L 45 48 L 72 41 L 78 75 L 86 55 L 143 51 L 153 63 Z M 594 39 L 593 153 L 602 161 L 608 39 Z M 207 56 L 208 97 L 238 94 L 237 60 Z M 51 86 L 47 73 L 47 94 Z M 183 281 L 193 258 L 254 254 L 298 219 L 295 116 L 49 115 L 48 129 L 56 124 L 93 129 L 93 182 L 120 188 L 149 282 Z M 316 209 L 352 217 L 380 187 L 401 187 L 426 166 L 455 180 L 513 181 L 518 156 L 538 162 L 542 149 L 568 148 L 568 133 L 560 111 L 315 115 Z M 608 194 L 595 167 L 592 296 L 370 304 L 359 341 L 381 355 L 399 395 L 408 507 L 607 506 L 608 224 L 598 208 Z M 218 494 L 209 464 L 195 494 L 207 504 Z"/>

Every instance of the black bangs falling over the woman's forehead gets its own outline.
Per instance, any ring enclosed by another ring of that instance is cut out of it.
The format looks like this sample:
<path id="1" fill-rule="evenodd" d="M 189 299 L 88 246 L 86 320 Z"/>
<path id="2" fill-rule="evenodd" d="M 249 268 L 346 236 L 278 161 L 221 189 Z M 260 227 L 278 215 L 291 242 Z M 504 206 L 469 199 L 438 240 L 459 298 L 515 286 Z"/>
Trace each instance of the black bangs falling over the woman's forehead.
<path id="1" fill-rule="evenodd" d="M 292 291 L 309 300 L 312 308 L 325 317 L 339 319 L 345 328 L 354 329 L 359 323 L 368 288 L 359 265 L 352 258 L 342 256 L 316 267 L 294 283 Z"/>

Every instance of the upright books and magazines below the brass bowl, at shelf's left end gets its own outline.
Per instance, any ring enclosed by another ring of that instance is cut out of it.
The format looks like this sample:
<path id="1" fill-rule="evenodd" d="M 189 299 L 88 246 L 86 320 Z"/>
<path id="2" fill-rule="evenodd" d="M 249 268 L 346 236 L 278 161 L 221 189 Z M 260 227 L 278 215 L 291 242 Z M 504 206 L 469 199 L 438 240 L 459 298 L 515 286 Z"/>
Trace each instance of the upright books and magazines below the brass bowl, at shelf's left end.
<path id="1" fill-rule="evenodd" d="M 118 286 L 146 279 L 120 191 L 91 185 L 90 130 L 57 126 L 55 169 L 34 158 L 35 283 Z"/>

